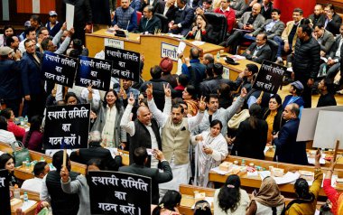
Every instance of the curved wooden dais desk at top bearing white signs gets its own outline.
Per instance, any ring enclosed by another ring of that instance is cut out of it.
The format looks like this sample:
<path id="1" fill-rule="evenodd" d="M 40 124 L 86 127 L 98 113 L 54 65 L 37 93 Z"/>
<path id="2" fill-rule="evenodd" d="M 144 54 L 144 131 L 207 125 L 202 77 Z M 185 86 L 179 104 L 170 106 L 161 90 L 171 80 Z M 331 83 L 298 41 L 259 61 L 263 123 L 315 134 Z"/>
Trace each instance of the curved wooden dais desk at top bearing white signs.
<path id="1" fill-rule="evenodd" d="M 124 42 L 124 49 L 128 51 L 136 51 L 144 54 L 144 79 L 151 79 L 150 68 L 154 65 L 158 65 L 162 59 L 162 42 L 172 46 L 179 46 L 181 39 L 172 38 L 167 34 L 161 35 L 141 35 L 138 33 L 129 33 L 128 38 L 116 37 L 113 33 L 107 33 L 106 29 L 101 29 L 94 33 L 86 33 L 86 46 L 89 50 L 89 56 L 94 57 L 95 54 L 105 49 L 105 39 L 115 39 L 120 42 Z M 198 47 L 200 56 L 205 53 L 217 54 L 218 51 L 224 50 L 224 47 L 205 42 L 202 45 L 196 46 L 192 44 L 190 40 L 184 40 L 186 48 L 184 53 L 189 56 L 191 47 Z M 177 61 L 173 61 L 172 72 L 177 70 Z"/>

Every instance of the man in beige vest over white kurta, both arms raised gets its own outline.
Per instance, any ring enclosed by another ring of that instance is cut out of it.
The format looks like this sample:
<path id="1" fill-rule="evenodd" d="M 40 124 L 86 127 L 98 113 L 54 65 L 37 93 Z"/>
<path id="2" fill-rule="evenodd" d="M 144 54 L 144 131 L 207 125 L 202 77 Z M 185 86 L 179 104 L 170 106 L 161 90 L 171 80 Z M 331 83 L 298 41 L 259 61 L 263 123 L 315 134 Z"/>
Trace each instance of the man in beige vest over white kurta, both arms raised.
<path id="1" fill-rule="evenodd" d="M 195 117 L 183 117 L 181 105 L 172 106 L 171 89 L 168 86 L 164 86 L 164 93 L 165 104 L 162 112 L 154 103 L 153 86 L 148 86 L 146 90 L 149 109 L 162 128 L 162 152 L 165 159 L 171 164 L 174 176 L 171 182 L 160 184 L 160 196 L 167 190 L 179 191 L 181 183 L 188 183 L 190 132 L 201 122 L 206 108 L 204 99 L 201 98 L 198 114 Z"/>

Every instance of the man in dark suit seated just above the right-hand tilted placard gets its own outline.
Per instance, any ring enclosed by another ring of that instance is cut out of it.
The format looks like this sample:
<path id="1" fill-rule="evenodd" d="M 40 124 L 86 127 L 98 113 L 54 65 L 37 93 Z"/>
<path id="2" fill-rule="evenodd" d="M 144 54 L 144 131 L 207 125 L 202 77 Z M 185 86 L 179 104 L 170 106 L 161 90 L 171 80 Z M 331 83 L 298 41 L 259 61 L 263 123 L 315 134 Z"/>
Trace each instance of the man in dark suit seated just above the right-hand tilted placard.
<path id="1" fill-rule="evenodd" d="M 267 35 L 259 33 L 256 36 L 256 42 L 252 43 L 242 54 L 247 60 L 262 63 L 262 61 L 270 61 L 272 50 L 267 42 Z"/>

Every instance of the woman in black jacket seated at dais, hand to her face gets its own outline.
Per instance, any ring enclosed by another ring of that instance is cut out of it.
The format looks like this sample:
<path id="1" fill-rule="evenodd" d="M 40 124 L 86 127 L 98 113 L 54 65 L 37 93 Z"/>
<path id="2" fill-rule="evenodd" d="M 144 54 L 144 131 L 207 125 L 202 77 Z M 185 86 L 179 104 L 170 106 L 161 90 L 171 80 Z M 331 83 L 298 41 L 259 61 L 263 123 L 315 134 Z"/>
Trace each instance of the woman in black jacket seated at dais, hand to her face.
<path id="1" fill-rule="evenodd" d="M 195 18 L 195 23 L 193 23 L 193 28 L 188 33 L 188 38 L 194 39 L 196 41 L 215 43 L 216 38 L 213 33 L 213 27 L 209 24 L 208 20 L 203 14 L 198 14 Z"/>

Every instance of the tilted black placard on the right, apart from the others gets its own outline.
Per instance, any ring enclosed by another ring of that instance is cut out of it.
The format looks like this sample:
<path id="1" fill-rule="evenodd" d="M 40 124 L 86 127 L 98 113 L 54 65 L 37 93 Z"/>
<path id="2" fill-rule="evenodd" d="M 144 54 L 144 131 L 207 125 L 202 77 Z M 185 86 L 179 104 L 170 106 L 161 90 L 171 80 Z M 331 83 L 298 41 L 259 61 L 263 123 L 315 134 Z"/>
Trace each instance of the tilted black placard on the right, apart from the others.
<path id="1" fill-rule="evenodd" d="M 257 77 L 254 81 L 253 89 L 261 89 L 264 92 L 277 93 L 277 90 L 283 84 L 283 74 L 287 68 L 273 63 L 263 61 Z"/>

